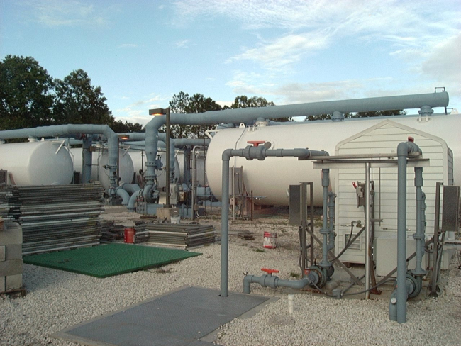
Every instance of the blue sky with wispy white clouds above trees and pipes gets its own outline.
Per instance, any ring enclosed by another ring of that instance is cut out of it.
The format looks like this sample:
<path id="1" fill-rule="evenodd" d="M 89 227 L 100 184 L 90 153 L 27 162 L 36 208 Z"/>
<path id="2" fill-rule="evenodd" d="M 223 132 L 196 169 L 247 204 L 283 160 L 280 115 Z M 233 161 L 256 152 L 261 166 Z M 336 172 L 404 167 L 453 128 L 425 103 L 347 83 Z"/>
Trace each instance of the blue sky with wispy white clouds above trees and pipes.
<path id="1" fill-rule="evenodd" d="M 461 112 L 460 0 L 0 0 L 6 55 L 84 69 L 132 123 L 180 91 L 282 105 L 445 87 Z"/>

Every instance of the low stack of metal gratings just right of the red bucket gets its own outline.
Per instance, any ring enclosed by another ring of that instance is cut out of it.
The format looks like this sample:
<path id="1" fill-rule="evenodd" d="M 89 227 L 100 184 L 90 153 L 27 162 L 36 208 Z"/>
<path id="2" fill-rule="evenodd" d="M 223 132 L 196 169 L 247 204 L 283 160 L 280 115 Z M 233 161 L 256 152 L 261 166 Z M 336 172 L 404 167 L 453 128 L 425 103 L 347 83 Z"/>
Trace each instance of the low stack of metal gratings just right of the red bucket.
<path id="1" fill-rule="evenodd" d="M 136 239 L 149 235 L 148 242 L 185 249 L 211 244 L 215 241 L 212 225 L 179 223 L 144 223 L 135 227 Z"/>

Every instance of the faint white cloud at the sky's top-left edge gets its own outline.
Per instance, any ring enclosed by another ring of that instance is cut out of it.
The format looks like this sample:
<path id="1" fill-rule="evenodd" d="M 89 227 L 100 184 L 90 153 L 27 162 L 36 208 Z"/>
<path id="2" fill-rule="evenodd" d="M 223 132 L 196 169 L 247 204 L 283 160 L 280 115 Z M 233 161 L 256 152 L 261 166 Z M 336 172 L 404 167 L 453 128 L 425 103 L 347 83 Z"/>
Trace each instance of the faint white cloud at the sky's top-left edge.
<path id="1" fill-rule="evenodd" d="M 23 3 L 34 21 L 49 26 L 107 26 L 105 10 L 100 11 L 94 4 L 74 0 L 38 0 Z"/>

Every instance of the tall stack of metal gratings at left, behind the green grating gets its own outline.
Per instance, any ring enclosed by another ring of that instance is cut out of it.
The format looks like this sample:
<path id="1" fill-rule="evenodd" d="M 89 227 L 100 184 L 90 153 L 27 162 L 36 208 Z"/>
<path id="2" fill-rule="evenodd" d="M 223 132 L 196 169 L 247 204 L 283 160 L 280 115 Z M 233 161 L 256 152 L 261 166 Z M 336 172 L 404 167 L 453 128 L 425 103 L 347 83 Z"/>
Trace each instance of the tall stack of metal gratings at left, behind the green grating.
<path id="1" fill-rule="evenodd" d="M 99 245 L 100 184 L 18 187 L 23 254 Z"/>

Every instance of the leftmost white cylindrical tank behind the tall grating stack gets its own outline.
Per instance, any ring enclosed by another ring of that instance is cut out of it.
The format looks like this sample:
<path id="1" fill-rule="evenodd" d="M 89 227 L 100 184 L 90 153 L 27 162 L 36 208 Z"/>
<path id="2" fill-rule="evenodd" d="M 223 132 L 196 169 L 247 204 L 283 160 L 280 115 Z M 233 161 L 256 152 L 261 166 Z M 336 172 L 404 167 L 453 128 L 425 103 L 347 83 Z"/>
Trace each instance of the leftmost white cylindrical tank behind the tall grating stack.
<path id="1" fill-rule="evenodd" d="M 0 169 L 18 186 L 70 184 L 72 158 L 62 142 L 0 144 Z"/>

